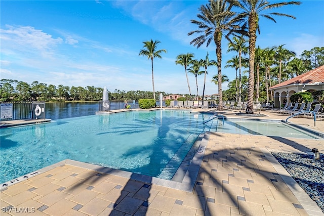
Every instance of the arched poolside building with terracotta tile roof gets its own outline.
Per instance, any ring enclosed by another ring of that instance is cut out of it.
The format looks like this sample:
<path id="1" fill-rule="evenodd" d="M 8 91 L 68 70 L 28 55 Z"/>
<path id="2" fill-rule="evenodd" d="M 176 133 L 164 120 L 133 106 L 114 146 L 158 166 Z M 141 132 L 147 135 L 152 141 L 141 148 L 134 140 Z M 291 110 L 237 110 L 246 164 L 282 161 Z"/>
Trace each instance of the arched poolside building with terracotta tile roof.
<path id="1" fill-rule="evenodd" d="M 270 88 L 274 91 L 274 106 L 281 107 L 297 92 L 324 90 L 324 65 L 281 82 Z"/>

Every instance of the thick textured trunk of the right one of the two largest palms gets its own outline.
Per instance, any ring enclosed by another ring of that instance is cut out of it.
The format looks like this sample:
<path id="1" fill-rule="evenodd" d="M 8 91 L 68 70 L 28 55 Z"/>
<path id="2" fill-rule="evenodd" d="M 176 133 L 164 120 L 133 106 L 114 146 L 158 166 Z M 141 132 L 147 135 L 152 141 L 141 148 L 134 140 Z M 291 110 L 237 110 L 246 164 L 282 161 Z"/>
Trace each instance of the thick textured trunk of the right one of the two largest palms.
<path id="1" fill-rule="evenodd" d="M 257 17 L 251 15 L 249 19 L 249 83 L 248 83 L 248 106 L 247 113 L 253 112 L 253 98 L 254 98 L 254 59 L 255 59 L 255 43 L 257 39 Z"/>

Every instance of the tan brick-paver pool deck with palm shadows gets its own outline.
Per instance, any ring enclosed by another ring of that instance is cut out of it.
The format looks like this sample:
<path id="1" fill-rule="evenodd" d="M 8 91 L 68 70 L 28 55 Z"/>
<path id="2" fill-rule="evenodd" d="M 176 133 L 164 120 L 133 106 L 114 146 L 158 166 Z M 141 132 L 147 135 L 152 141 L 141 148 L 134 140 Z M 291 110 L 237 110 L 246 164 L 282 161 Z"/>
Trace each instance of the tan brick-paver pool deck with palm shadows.
<path id="1" fill-rule="evenodd" d="M 288 117 L 261 113 L 267 117 L 247 118 Z M 324 121 L 316 127 L 312 118 L 290 122 L 324 133 Z M 191 191 L 176 182 L 66 160 L 3 188 L 1 215 L 324 215 L 271 154 L 310 154 L 312 148 L 323 153 L 323 139 L 208 132 L 202 144 L 203 158 L 192 162 L 201 165 L 189 169 L 182 183 L 193 185 Z"/>

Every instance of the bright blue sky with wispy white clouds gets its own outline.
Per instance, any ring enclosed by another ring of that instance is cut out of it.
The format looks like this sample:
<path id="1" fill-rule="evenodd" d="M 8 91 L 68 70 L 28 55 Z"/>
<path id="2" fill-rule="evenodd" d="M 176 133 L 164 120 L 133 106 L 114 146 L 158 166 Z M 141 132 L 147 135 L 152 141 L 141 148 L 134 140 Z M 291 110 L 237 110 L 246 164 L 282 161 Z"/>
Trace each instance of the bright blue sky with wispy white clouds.
<path id="1" fill-rule="evenodd" d="M 275 1 L 270 1 L 274 3 Z M 281 2 L 281 1 L 280 1 Z M 324 1 L 301 1 L 275 12 L 297 19 L 274 17 L 277 23 L 260 19 L 261 48 L 285 44 L 297 53 L 324 47 Z M 190 45 L 198 36 L 187 33 L 197 26 L 200 5 L 208 1 L 1 1 L 1 78 L 68 85 L 104 86 L 108 91 L 152 91 L 151 62 L 139 56 L 143 41 L 159 40 L 157 49 L 166 49 L 154 59 L 155 91 L 188 94 L 184 67 L 176 65 L 177 55 L 194 53 L 195 59 L 216 60 L 212 42 L 199 49 Z M 235 71 L 224 69 L 236 53 L 226 53 L 223 40 L 222 73 L 230 80 Z M 205 94 L 217 93 L 211 82 L 216 67 L 208 68 Z M 193 94 L 195 78 L 188 74 Z M 198 76 L 199 95 L 204 75 Z M 227 83 L 223 84 L 223 90 Z"/>

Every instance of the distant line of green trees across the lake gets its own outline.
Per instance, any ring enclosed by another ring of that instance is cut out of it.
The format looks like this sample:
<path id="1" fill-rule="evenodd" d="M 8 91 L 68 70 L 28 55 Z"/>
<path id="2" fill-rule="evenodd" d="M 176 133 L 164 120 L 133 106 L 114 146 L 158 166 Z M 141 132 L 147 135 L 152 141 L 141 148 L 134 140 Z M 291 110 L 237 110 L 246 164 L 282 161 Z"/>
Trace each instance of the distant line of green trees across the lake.
<path id="1" fill-rule="evenodd" d="M 100 101 L 102 100 L 103 88 L 92 86 L 68 87 L 53 84 L 39 83 L 33 81 L 28 84 L 24 81 L 1 79 L 0 80 L 0 102 L 14 101 Z M 139 99 L 153 99 L 153 92 L 148 91 L 120 91 L 115 89 L 109 92 L 109 100 L 125 101 Z M 156 92 L 158 95 L 165 92 Z"/>

